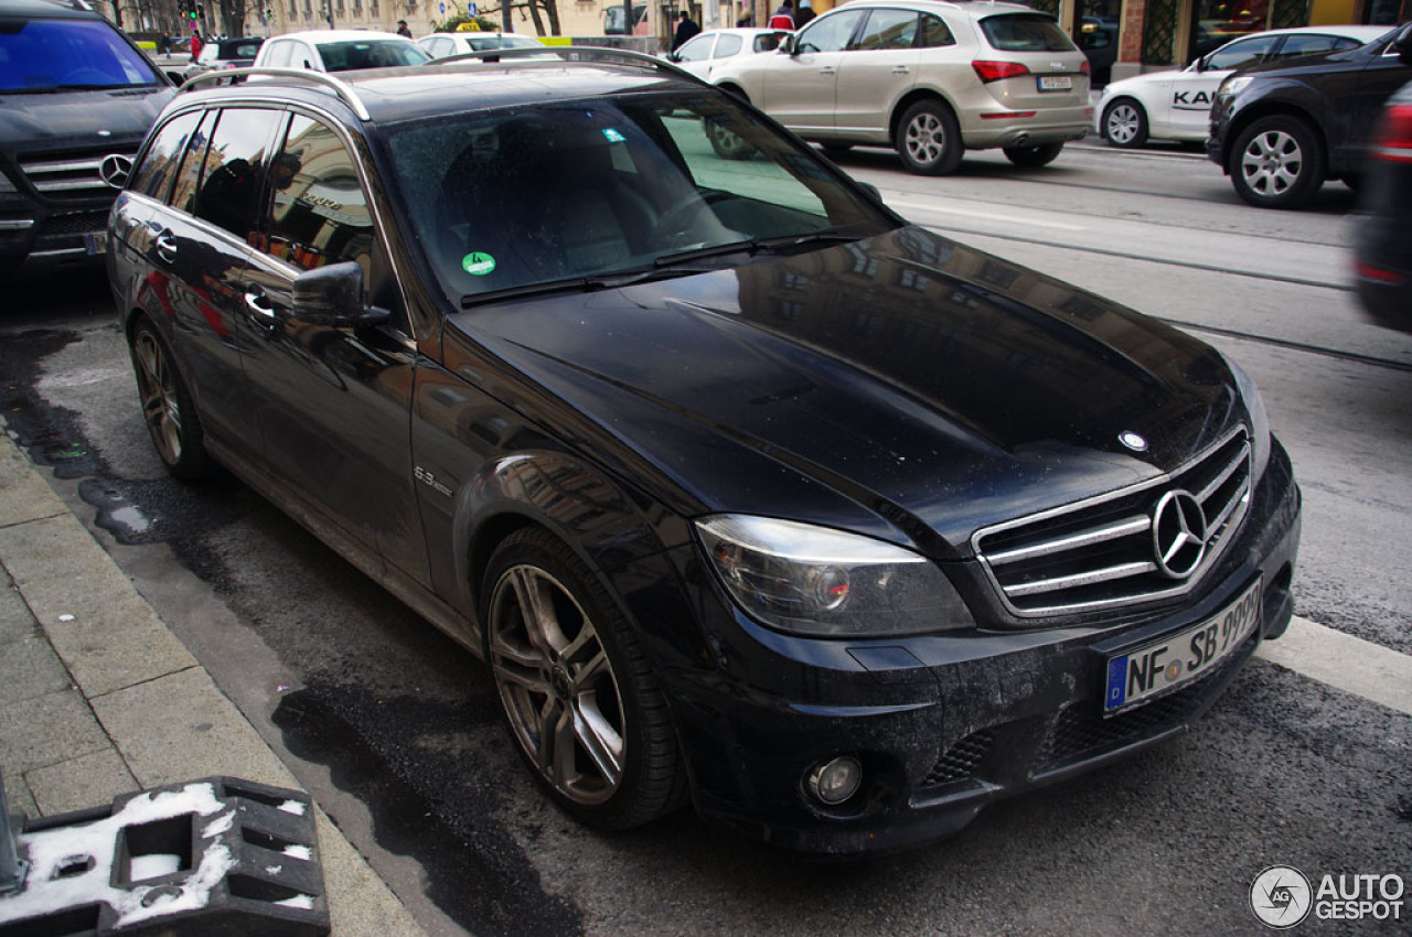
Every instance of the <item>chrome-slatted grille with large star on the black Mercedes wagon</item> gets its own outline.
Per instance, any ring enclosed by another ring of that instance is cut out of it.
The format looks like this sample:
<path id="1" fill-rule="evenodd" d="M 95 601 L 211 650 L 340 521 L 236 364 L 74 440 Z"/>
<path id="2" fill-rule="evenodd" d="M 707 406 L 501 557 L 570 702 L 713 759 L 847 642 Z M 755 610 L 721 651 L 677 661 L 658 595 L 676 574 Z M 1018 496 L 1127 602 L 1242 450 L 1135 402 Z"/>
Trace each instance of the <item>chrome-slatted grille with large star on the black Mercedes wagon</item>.
<path id="1" fill-rule="evenodd" d="M 1171 476 L 981 529 L 971 545 L 1021 618 L 1180 596 L 1224 552 L 1250 507 L 1245 429 Z"/>

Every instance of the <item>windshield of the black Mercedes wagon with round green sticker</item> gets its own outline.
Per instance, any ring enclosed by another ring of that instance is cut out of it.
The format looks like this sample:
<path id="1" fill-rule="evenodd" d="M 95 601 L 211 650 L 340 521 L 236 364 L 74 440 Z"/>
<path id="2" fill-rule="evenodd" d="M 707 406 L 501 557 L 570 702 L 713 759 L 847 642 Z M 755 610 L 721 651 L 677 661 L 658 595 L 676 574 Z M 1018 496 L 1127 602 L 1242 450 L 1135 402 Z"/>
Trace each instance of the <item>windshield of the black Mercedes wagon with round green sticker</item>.
<path id="1" fill-rule="evenodd" d="M 445 116 L 391 128 L 388 145 L 417 241 L 467 301 L 895 227 L 719 93 Z"/>

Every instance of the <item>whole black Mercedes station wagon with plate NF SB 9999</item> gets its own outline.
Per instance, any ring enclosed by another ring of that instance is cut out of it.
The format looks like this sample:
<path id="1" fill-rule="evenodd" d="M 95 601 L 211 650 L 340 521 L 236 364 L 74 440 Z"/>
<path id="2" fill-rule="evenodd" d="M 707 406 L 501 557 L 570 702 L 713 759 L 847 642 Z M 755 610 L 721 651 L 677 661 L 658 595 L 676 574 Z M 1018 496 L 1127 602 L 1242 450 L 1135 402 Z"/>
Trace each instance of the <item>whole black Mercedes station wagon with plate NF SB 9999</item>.
<path id="1" fill-rule="evenodd" d="M 168 470 L 484 655 L 568 813 L 915 845 L 1284 631 L 1299 494 L 1236 364 L 666 62 L 563 55 L 198 78 L 107 258 Z"/>

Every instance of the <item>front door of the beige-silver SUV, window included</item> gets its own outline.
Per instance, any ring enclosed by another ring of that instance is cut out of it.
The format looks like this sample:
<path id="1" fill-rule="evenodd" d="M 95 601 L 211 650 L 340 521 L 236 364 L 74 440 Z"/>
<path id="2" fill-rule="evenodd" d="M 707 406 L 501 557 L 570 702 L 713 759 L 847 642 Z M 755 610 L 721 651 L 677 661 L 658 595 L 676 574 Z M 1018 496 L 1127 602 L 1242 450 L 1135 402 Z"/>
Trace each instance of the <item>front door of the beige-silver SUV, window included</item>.
<path id="1" fill-rule="evenodd" d="M 803 135 L 833 130 L 839 65 L 866 10 L 822 16 L 795 37 L 794 52 L 775 56 L 765 71 L 765 113 Z"/>

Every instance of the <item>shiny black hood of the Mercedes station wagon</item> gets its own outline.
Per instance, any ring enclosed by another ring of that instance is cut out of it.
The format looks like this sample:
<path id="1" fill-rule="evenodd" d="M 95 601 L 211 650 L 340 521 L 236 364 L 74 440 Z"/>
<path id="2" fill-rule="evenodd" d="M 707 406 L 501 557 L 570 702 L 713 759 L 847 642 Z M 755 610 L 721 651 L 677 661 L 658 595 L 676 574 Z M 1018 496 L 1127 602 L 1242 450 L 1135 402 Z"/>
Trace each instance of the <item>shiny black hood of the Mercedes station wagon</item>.
<path id="1" fill-rule="evenodd" d="M 626 445 L 606 461 L 645 457 L 702 511 L 949 556 L 1172 470 L 1240 412 L 1209 346 L 918 227 L 452 323 Z"/>

